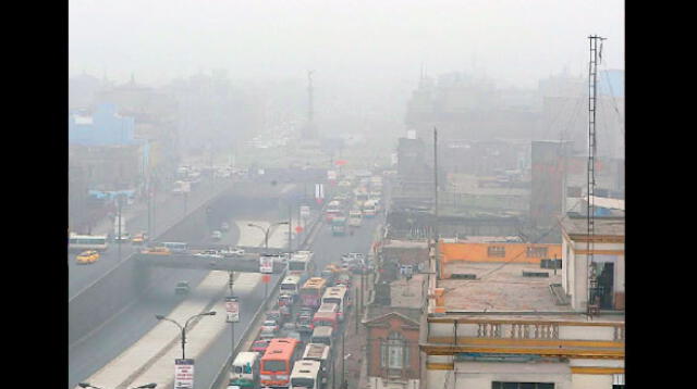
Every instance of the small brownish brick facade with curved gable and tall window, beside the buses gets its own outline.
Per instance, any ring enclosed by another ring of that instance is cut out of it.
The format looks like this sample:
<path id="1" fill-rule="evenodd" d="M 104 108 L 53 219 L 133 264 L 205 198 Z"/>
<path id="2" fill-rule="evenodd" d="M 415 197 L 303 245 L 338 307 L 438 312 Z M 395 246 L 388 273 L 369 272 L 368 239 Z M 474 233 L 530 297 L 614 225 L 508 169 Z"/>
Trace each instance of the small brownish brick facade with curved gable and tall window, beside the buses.
<path id="1" fill-rule="evenodd" d="M 391 312 L 365 322 L 370 388 L 417 389 L 420 378 L 418 322 Z"/>

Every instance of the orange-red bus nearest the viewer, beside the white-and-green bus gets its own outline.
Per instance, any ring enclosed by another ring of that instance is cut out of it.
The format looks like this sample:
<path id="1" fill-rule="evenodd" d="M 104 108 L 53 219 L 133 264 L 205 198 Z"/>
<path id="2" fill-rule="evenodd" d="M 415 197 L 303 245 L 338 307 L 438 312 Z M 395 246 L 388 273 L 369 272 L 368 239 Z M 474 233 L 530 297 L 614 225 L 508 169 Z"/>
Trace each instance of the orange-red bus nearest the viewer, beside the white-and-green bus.
<path id="1" fill-rule="evenodd" d="M 259 376 L 261 386 L 289 387 L 293 362 L 295 362 L 299 341 L 294 338 L 271 339 L 261 356 Z"/>

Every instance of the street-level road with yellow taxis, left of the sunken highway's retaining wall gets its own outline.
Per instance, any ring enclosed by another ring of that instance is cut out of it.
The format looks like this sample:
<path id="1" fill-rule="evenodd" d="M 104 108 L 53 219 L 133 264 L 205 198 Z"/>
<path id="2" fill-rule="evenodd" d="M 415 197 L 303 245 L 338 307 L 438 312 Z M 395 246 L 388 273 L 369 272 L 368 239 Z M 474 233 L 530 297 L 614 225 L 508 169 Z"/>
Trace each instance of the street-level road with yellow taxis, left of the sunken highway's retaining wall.
<path id="1" fill-rule="evenodd" d="M 187 212 L 192 212 L 196 208 L 200 206 L 204 202 L 216 196 L 219 190 L 222 190 L 224 185 L 229 183 L 216 181 L 201 181 L 200 186 L 194 189 L 189 195 L 187 201 Z M 157 234 L 163 233 L 179 221 L 184 217 L 184 200 L 182 196 L 168 195 L 162 202 L 158 201 L 156 206 L 156 223 Z M 135 234 L 138 231 L 147 230 L 147 211 L 134 216 L 126 223 L 126 228 L 130 233 Z M 131 243 L 123 243 L 121 246 L 121 260 L 125 260 L 135 252 L 137 248 L 132 247 Z M 101 278 L 112 268 L 119 264 L 118 244 L 110 243 L 109 249 L 105 251 L 99 261 L 89 265 L 77 265 L 75 263 L 75 255 L 77 252 L 71 252 L 68 254 L 68 296 L 72 299 L 80 293 L 84 288 L 91 283 Z"/>

